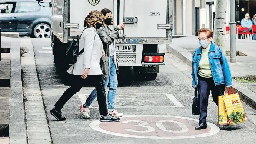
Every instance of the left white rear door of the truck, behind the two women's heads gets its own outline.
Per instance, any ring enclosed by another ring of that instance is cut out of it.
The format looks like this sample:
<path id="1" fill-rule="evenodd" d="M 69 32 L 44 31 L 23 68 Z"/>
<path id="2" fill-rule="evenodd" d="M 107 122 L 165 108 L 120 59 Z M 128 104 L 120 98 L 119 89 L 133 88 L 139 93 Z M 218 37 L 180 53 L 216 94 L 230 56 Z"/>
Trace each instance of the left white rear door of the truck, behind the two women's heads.
<path id="1" fill-rule="evenodd" d="M 77 37 L 83 31 L 84 18 L 90 11 L 108 8 L 113 14 L 112 0 L 70 0 L 70 23 L 79 24 L 79 29 L 70 29 L 70 37 Z"/>

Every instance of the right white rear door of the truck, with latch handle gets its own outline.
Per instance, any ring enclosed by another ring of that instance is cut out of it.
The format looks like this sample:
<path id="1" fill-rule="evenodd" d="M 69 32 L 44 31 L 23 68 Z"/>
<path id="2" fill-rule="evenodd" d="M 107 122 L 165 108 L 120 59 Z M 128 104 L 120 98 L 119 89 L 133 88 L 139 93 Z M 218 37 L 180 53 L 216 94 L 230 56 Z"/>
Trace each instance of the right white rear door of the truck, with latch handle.
<path id="1" fill-rule="evenodd" d="M 167 4 L 166 0 L 120 0 L 120 23 L 127 22 L 122 33 L 126 38 L 167 39 L 166 29 L 157 29 L 158 24 L 168 24 Z"/>

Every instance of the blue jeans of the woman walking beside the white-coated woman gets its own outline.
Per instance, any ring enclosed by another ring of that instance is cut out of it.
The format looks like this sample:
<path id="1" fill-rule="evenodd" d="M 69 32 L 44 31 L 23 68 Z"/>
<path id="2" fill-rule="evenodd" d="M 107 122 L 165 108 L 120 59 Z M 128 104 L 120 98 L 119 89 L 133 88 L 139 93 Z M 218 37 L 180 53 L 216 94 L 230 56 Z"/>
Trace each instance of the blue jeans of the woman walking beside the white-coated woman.
<path id="1" fill-rule="evenodd" d="M 114 103 L 116 98 L 116 89 L 117 89 L 117 74 L 116 74 L 116 66 L 114 64 L 114 57 L 110 56 L 110 64 L 109 64 L 109 76 L 105 79 L 105 89 L 107 89 L 107 85 L 109 84 L 109 92 L 107 94 L 107 104 L 109 110 L 114 110 Z M 93 89 L 89 97 L 86 99 L 85 106 L 89 108 L 92 105 L 92 102 L 97 97 L 96 89 Z"/>

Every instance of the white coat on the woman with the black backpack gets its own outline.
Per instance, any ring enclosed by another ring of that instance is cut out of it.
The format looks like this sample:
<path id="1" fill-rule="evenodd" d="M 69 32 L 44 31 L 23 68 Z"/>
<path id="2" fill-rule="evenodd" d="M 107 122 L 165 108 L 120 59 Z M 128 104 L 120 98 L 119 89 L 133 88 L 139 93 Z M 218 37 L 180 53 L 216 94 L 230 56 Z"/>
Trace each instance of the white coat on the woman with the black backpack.
<path id="1" fill-rule="evenodd" d="M 102 57 L 103 45 L 94 27 L 84 30 L 79 41 L 79 52 L 83 48 L 84 52 L 67 72 L 73 75 L 82 75 L 84 69 L 89 68 L 88 75 L 101 75 L 100 58 Z"/>

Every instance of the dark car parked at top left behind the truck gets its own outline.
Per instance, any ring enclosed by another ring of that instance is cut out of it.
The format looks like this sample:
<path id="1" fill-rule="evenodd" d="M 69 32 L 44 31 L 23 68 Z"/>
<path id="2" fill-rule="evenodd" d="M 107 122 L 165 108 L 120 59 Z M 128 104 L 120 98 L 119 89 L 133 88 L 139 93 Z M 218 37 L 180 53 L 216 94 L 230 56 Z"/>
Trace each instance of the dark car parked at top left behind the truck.
<path id="1" fill-rule="evenodd" d="M 1 0 L 1 32 L 19 32 L 36 38 L 51 36 L 51 8 L 36 0 Z"/>

